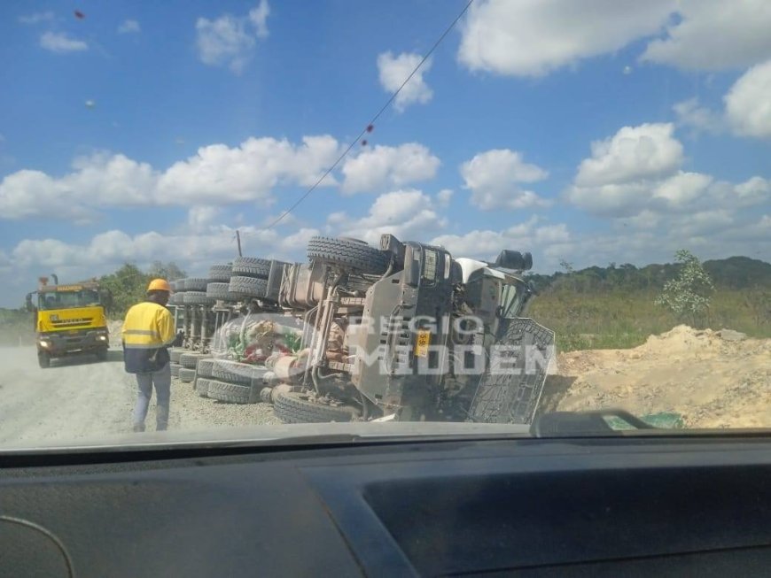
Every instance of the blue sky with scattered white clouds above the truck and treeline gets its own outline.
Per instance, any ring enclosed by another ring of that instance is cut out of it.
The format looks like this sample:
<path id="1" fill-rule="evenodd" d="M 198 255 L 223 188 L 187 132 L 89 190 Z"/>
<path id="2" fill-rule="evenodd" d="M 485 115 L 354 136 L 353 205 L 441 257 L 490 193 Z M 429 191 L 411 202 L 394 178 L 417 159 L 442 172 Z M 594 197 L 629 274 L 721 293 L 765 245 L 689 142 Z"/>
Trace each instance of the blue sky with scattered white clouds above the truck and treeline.
<path id="1" fill-rule="evenodd" d="M 368 144 L 262 230 L 464 4 L 2 4 L 0 306 L 39 274 L 203 272 L 236 228 L 280 258 L 389 231 L 456 256 L 532 250 L 540 271 L 680 247 L 768 260 L 763 0 L 476 0 Z"/>

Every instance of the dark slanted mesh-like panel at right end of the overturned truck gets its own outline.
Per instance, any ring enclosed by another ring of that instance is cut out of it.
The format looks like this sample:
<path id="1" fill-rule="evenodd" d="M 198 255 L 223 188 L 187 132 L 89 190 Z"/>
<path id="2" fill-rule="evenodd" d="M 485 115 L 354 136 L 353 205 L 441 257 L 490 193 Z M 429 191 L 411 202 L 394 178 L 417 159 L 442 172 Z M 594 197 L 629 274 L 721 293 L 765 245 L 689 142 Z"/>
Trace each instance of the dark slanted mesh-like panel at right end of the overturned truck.
<path id="1" fill-rule="evenodd" d="M 554 331 L 530 319 L 500 320 L 495 353 L 471 400 L 471 420 L 529 424 L 554 361 Z M 492 349 L 492 348 L 491 348 Z"/>

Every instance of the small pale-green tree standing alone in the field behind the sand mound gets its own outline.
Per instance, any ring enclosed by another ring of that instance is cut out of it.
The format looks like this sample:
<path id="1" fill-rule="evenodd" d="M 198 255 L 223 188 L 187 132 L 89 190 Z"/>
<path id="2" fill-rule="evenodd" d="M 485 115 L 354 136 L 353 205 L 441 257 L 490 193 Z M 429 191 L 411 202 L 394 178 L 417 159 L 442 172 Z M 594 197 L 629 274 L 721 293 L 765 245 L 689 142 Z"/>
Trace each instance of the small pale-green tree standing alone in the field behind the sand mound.
<path id="1" fill-rule="evenodd" d="M 681 320 L 690 320 L 694 327 L 709 316 L 713 281 L 698 258 L 689 250 L 674 253 L 674 260 L 680 265 L 680 273 L 666 281 L 655 303 L 666 307 Z"/>

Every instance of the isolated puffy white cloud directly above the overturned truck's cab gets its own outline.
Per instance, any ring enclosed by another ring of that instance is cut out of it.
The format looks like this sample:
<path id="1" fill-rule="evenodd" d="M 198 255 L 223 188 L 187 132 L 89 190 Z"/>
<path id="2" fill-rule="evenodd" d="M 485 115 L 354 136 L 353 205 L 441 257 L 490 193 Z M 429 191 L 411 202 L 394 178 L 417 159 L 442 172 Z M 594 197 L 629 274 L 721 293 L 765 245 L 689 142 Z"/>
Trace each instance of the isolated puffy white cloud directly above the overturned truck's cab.
<path id="1" fill-rule="evenodd" d="M 549 176 L 540 166 L 528 164 L 516 150 L 480 152 L 460 167 L 471 204 L 484 211 L 549 206 L 549 201 L 523 190 L 519 183 L 542 181 Z"/>

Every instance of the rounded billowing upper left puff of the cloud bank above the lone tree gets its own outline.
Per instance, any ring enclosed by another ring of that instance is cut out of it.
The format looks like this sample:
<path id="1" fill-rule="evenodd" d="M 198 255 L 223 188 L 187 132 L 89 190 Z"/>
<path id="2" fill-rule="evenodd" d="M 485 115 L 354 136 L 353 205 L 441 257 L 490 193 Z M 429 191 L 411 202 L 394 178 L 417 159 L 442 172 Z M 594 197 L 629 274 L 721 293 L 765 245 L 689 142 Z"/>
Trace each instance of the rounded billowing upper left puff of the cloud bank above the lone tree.
<path id="1" fill-rule="evenodd" d="M 596 187 L 672 173 L 682 162 L 682 145 L 673 132 L 672 124 L 643 124 L 592 143 L 592 157 L 581 162 L 576 184 Z"/>

